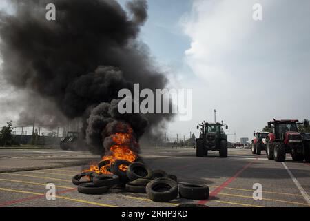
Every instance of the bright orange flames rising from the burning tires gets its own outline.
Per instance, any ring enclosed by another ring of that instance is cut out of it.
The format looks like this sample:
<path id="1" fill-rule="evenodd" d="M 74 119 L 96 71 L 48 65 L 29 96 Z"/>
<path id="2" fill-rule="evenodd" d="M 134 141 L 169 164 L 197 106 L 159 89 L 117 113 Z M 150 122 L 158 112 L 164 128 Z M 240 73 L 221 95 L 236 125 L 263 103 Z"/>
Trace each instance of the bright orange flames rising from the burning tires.
<path id="1" fill-rule="evenodd" d="M 138 143 L 134 139 L 132 128 L 129 128 L 128 133 L 115 133 L 112 135 L 112 140 L 115 143 L 113 146 L 110 147 L 110 155 L 105 155 L 102 157 L 102 161 L 110 161 L 109 164 L 106 166 L 102 166 L 100 169 L 96 164 L 90 166 L 90 169 L 87 169 L 83 172 L 95 172 L 98 174 L 111 174 L 108 171 L 108 168 L 114 164 L 116 160 L 127 160 L 129 162 L 136 161 L 137 155 L 130 149 L 130 144 L 137 146 Z M 127 171 L 128 166 L 121 165 L 119 169 L 122 171 Z"/>

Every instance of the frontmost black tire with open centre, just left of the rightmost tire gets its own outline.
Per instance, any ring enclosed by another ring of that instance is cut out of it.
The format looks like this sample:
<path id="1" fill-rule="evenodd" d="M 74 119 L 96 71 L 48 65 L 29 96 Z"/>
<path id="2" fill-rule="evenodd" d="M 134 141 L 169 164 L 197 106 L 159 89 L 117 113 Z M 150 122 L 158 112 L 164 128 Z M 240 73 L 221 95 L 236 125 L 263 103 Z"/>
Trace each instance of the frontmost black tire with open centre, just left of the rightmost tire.
<path id="1" fill-rule="evenodd" d="M 169 178 L 158 178 L 147 184 L 146 192 L 154 202 L 169 202 L 178 197 L 178 184 Z"/>

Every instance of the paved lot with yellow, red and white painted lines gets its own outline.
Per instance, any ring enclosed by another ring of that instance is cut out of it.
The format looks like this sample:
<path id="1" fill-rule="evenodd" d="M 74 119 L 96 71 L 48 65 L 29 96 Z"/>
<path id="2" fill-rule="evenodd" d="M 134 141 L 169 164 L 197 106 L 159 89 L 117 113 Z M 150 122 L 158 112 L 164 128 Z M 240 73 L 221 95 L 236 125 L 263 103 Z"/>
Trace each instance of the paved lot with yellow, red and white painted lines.
<path id="1" fill-rule="evenodd" d="M 145 194 L 114 189 L 103 195 L 83 195 L 72 184 L 72 176 L 99 156 L 60 149 L 0 150 L 0 206 L 151 206 L 170 207 L 199 203 L 210 207 L 304 207 L 310 206 L 310 165 L 285 163 L 252 155 L 251 150 L 229 149 L 229 157 L 218 153 L 196 157 L 194 149 L 149 148 L 141 157 L 152 169 L 178 176 L 180 183 L 207 184 L 209 200 L 177 198 L 169 203 L 152 202 Z M 56 200 L 45 197 L 46 184 L 56 185 Z M 254 200 L 254 184 L 262 186 L 262 199 Z"/>

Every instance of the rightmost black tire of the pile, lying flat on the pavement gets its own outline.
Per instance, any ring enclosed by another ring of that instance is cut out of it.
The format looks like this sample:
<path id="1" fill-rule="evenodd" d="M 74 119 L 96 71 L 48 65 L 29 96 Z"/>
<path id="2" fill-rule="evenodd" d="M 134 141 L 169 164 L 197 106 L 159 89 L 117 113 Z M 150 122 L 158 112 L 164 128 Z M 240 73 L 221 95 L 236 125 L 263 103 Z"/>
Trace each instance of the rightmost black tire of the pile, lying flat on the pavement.
<path id="1" fill-rule="evenodd" d="M 181 198 L 189 200 L 209 199 L 209 186 L 198 184 L 180 184 L 178 191 Z"/>

